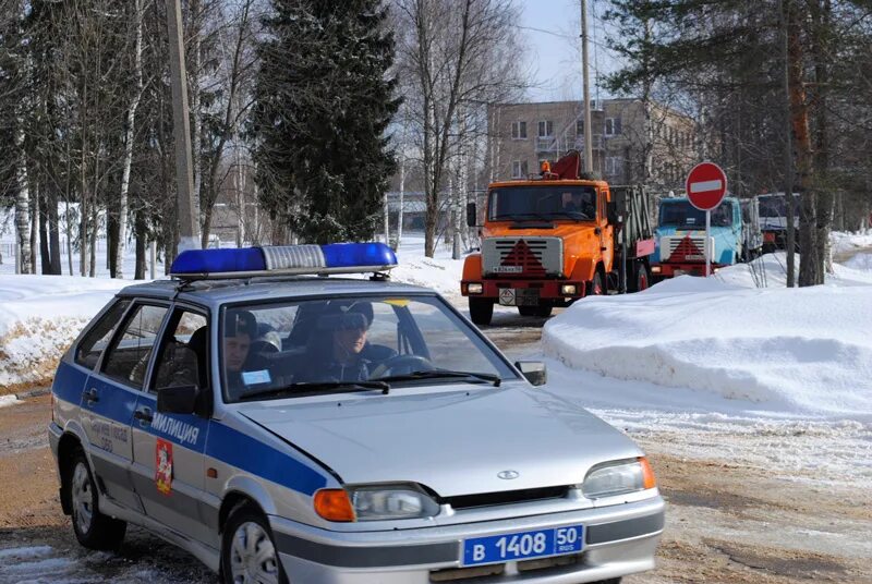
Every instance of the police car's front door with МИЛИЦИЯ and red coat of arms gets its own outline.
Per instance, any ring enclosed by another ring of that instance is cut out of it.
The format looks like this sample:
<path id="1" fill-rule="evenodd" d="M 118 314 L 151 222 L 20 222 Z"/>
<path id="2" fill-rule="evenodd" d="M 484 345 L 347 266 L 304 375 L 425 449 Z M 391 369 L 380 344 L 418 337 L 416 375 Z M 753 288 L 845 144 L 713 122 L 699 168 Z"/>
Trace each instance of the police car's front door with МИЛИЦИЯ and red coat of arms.
<path id="1" fill-rule="evenodd" d="M 203 452 L 208 417 L 157 411 L 165 387 L 208 382 L 208 317 L 205 312 L 177 306 L 167 321 L 133 421 L 133 480 L 146 514 L 187 537 L 210 543 L 201 519 L 206 474 Z"/>

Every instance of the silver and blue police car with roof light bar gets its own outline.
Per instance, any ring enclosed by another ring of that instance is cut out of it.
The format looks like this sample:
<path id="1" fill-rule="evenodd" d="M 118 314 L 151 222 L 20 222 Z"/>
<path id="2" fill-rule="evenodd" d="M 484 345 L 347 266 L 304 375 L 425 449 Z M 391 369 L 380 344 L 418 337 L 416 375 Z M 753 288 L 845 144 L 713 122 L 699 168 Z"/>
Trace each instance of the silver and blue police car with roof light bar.
<path id="1" fill-rule="evenodd" d="M 616 582 L 664 501 L 383 244 L 187 251 L 64 355 L 49 438 L 78 542 L 128 523 L 225 582 Z M 368 280 L 329 273 L 373 273 Z"/>

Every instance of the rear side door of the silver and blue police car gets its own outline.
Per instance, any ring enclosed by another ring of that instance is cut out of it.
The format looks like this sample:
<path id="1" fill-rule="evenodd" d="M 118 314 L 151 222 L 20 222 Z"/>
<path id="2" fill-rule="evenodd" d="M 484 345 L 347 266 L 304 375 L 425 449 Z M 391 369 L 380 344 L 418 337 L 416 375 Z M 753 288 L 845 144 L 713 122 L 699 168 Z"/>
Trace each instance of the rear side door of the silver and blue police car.
<path id="1" fill-rule="evenodd" d="M 104 492 L 116 502 L 142 512 L 131 480 L 131 422 L 157 331 L 167 306 L 135 303 L 128 311 L 98 368 L 85 384 L 80 421 Z"/>

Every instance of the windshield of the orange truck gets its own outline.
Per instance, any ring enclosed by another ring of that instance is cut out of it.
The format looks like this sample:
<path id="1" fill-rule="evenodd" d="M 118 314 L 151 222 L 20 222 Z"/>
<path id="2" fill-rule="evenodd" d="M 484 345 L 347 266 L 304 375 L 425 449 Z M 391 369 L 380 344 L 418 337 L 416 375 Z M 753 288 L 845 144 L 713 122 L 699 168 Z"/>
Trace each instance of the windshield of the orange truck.
<path id="1" fill-rule="evenodd" d="M 596 188 L 593 186 L 504 186 L 492 188 L 487 200 L 491 221 L 535 219 L 596 219 Z"/>

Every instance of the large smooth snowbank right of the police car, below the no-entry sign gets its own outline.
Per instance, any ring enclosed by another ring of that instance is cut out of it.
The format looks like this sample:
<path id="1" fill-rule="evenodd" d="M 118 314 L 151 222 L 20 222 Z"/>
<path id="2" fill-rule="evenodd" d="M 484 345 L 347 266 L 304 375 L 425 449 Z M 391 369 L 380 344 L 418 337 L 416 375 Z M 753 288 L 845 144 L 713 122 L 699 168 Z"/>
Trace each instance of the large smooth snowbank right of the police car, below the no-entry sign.
<path id="1" fill-rule="evenodd" d="M 585 299 L 546 324 L 545 354 L 654 384 L 665 401 L 666 388 L 689 388 L 703 392 L 697 406 L 872 419 L 872 288 L 756 289 L 730 273 L 742 268 Z"/>

